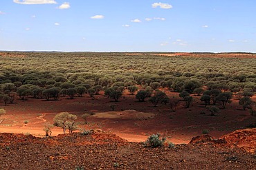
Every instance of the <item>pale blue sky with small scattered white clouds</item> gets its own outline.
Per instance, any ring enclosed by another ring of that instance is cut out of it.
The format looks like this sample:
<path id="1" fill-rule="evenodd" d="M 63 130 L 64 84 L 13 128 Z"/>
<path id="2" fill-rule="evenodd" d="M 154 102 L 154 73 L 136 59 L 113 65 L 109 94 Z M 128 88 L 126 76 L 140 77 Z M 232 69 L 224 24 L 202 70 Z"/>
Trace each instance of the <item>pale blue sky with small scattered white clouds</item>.
<path id="1" fill-rule="evenodd" d="M 0 50 L 256 52 L 254 0 L 1 0 Z"/>

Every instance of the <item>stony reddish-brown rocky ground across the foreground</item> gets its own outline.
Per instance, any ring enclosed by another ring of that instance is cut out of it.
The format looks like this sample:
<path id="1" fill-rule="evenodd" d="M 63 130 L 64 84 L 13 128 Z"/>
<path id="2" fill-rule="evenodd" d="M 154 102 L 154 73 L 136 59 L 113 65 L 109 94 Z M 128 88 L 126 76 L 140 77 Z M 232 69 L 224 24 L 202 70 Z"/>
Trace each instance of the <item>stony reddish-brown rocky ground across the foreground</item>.
<path id="1" fill-rule="evenodd" d="M 246 145 L 248 144 L 248 145 Z M 0 134 L 1 169 L 256 169 L 256 129 L 188 145 L 144 147 L 114 134 L 94 132 L 36 138 Z"/>

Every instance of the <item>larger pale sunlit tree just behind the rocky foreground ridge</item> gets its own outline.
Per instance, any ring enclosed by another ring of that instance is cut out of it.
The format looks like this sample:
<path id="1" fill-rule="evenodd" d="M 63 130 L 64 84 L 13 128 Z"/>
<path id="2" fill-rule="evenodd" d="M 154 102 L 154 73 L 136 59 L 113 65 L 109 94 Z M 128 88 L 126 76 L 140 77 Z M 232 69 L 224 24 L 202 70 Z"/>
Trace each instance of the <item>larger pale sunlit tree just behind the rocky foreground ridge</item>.
<path id="1" fill-rule="evenodd" d="M 66 133 L 66 129 L 68 129 L 69 133 L 71 133 L 76 128 L 76 119 L 77 116 L 75 116 L 74 114 L 69 114 L 68 112 L 61 112 L 53 118 L 53 125 L 55 125 L 56 127 L 61 127 L 63 129 L 63 134 Z"/>

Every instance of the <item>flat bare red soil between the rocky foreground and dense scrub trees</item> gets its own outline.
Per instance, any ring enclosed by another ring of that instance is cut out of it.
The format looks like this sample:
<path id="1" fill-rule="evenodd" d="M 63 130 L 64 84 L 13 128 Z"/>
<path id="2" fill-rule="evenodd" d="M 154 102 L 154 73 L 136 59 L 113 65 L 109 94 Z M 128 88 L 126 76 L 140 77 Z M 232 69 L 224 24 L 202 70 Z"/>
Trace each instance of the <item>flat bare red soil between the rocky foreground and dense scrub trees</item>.
<path id="1" fill-rule="evenodd" d="M 178 94 L 170 93 L 169 96 Z M 29 98 L 26 101 L 16 100 L 15 104 L 0 107 L 6 109 L 6 114 L 1 116 L 3 122 L 0 124 L 0 132 L 33 134 L 35 136 L 44 136 L 44 123 L 53 123 L 55 114 L 62 111 L 68 111 L 76 114 L 77 122 L 80 127 L 86 129 L 103 129 L 113 134 L 125 138 L 129 141 L 145 141 L 149 135 L 161 133 L 168 140 L 174 143 L 188 143 L 194 136 L 202 134 L 204 129 L 210 132 L 210 136 L 219 138 L 236 129 L 255 123 L 256 118 L 250 116 L 248 110 L 241 110 L 238 100 L 232 100 L 226 109 L 221 109 L 217 116 L 209 116 L 210 113 L 203 105 L 199 97 L 194 96 L 195 100 L 191 108 L 185 109 L 183 102 L 180 103 L 176 112 L 172 112 L 170 106 L 159 104 L 158 107 L 152 107 L 152 103 L 139 103 L 134 95 L 128 95 L 120 98 L 118 103 L 113 102 L 103 95 L 95 96 L 92 100 L 85 95 L 82 98 L 68 100 L 60 98 L 56 101 L 45 101 L 42 99 Z M 122 110 L 136 110 L 145 113 L 155 114 L 154 118 L 134 118 L 132 116 L 122 118 L 97 118 L 89 116 L 89 124 L 84 125 L 81 118 L 84 113 L 100 113 L 111 111 L 110 105 L 116 105 L 115 111 L 122 115 Z M 200 114 L 202 111 L 205 114 Z M 28 123 L 26 123 L 28 122 Z M 54 127 L 53 136 L 62 134 L 62 129 Z"/>

